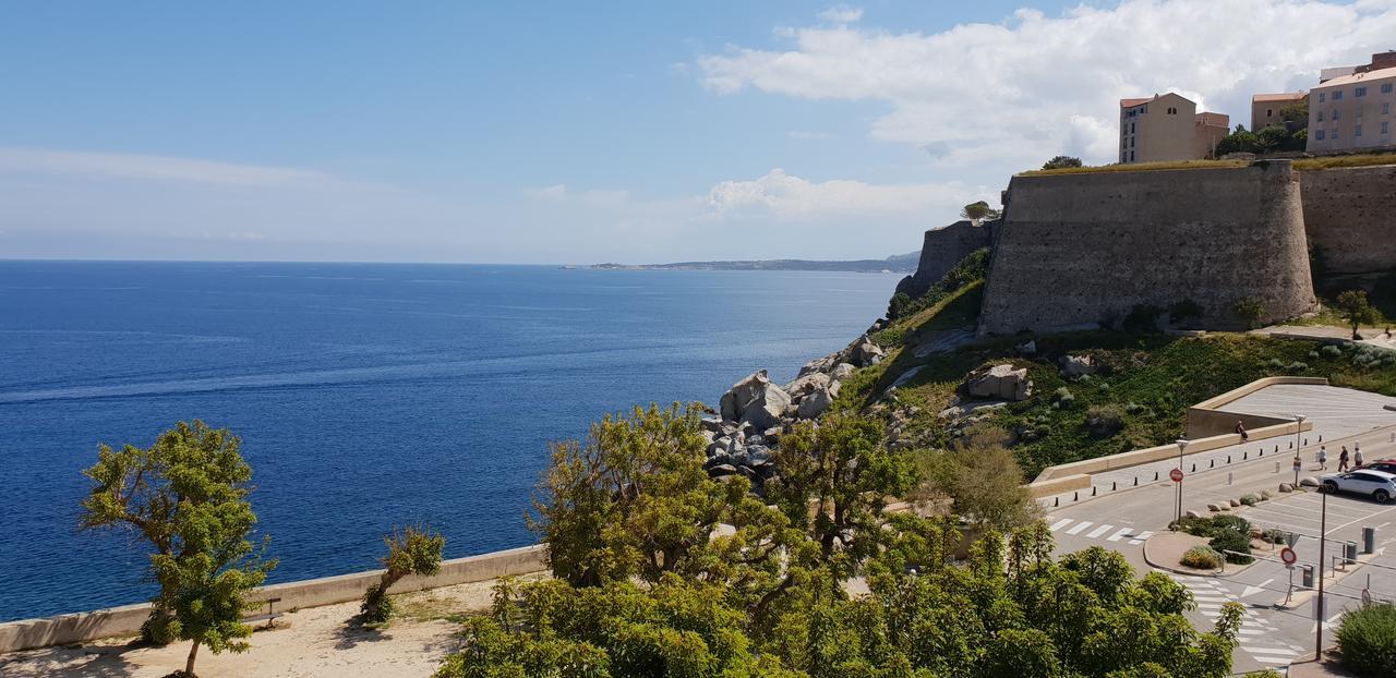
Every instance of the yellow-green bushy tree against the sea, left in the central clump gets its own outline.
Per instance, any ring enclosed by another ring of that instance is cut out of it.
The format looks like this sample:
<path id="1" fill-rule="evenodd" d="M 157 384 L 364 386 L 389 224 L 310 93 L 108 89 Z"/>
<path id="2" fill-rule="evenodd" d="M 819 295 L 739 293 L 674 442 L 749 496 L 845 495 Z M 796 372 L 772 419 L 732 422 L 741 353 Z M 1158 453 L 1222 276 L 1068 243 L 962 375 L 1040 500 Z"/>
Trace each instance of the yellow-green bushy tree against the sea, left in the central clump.
<path id="1" fill-rule="evenodd" d="M 677 573 L 726 582 L 751 601 L 771 593 L 794 533 L 745 477 L 708 477 L 701 412 L 637 407 L 592 425 L 585 445 L 554 445 L 529 518 L 553 576 L 602 586 Z"/>

